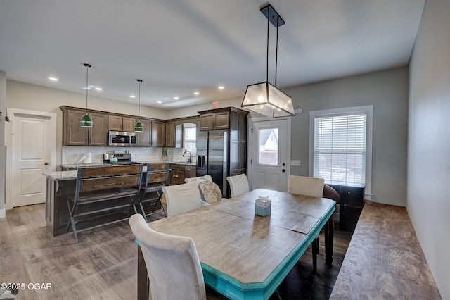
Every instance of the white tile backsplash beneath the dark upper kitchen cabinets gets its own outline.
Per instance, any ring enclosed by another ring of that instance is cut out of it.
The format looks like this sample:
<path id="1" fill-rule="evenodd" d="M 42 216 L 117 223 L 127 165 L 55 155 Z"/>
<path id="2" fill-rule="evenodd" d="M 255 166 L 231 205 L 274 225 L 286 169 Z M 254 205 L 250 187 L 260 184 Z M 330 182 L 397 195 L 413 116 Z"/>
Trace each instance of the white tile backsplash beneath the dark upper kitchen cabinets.
<path id="1" fill-rule="evenodd" d="M 89 146 L 63 146 L 61 163 L 63 165 L 72 165 L 82 158 L 84 153 L 92 154 L 92 163 L 103 163 L 103 154 L 105 153 L 131 153 L 132 161 L 160 161 L 162 148 L 144 148 L 144 147 L 89 147 Z M 167 161 L 186 161 L 183 157 L 184 149 L 167 148 Z M 195 162 L 195 154 L 192 155 L 192 161 Z"/>

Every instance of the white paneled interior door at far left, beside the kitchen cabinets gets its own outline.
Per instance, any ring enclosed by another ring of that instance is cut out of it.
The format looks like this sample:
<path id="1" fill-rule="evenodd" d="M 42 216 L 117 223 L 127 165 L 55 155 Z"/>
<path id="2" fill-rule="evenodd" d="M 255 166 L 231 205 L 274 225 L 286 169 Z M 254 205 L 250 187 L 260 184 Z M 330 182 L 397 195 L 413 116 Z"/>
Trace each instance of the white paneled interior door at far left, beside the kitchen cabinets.
<path id="1" fill-rule="evenodd" d="M 44 170 L 52 170 L 51 117 L 14 113 L 11 128 L 12 204 L 23 206 L 45 202 Z M 55 147 L 56 148 L 56 147 Z"/>

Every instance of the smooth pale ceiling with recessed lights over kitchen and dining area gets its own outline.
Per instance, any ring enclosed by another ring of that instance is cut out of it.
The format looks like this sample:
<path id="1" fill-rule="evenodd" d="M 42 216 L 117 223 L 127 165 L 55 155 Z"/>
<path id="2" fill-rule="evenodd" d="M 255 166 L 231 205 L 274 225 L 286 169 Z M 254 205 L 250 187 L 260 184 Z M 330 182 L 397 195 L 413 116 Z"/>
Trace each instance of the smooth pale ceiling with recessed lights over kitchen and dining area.
<path id="1" fill-rule="evenodd" d="M 8 80 L 163 109 L 243 97 L 266 81 L 260 0 L 0 1 Z M 408 65 L 425 0 L 274 0 L 281 89 Z M 276 28 L 270 25 L 269 81 Z M 51 82 L 48 77 L 58 78 Z M 225 88 L 219 90 L 217 87 Z M 194 95 L 199 92 L 199 95 Z M 179 99 L 174 99 L 174 97 Z M 158 104 L 157 101 L 162 101 Z"/>

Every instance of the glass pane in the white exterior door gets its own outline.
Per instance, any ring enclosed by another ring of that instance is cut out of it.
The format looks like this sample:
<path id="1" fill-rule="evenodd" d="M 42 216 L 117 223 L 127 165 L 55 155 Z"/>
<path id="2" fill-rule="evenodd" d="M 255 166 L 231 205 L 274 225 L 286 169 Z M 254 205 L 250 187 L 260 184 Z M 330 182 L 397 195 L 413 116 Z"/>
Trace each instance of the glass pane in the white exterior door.
<path id="1" fill-rule="evenodd" d="M 259 129 L 259 165 L 278 165 L 278 127 Z"/>

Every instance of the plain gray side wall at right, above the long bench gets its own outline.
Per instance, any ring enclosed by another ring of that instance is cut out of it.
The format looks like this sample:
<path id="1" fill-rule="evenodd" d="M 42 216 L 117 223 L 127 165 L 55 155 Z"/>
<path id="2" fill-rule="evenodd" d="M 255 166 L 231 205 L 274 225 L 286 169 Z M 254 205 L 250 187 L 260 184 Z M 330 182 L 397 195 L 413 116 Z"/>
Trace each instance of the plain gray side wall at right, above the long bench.
<path id="1" fill-rule="evenodd" d="M 450 1 L 426 1 L 410 63 L 408 213 L 450 299 Z"/>

